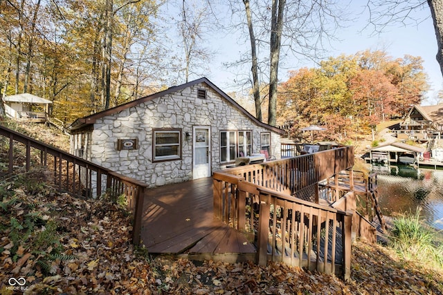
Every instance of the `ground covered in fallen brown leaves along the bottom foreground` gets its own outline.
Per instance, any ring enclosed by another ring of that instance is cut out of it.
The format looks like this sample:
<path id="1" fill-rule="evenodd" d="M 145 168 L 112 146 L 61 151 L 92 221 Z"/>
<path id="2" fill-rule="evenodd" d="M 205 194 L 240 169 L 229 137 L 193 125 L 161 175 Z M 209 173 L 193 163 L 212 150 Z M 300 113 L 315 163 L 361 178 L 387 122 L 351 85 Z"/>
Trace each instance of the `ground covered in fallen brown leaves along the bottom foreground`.
<path id="1" fill-rule="evenodd" d="M 1 294 L 443 294 L 441 272 L 364 242 L 353 245 L 350 282 L 278 263 L 154 258 L 132 246 L 117 204 L 2 185 Z"/>

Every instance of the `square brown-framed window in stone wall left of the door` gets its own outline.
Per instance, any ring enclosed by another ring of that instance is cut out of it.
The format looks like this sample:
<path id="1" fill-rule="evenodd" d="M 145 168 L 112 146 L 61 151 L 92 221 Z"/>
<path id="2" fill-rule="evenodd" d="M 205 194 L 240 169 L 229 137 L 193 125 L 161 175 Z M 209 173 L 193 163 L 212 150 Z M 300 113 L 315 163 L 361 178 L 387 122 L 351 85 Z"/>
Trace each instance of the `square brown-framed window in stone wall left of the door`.
<path id="1" fill-rule="evenodd" d="M 154 129 L 153 133 L 154 161 L 181 158 L 181 129 Z"/>

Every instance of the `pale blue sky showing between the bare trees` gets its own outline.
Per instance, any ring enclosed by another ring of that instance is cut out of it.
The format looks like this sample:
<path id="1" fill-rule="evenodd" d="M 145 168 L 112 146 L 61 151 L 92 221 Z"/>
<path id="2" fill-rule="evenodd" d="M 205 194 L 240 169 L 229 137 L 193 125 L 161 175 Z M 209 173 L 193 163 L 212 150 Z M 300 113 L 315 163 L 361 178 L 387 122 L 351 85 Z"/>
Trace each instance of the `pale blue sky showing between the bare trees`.
<path id="1" fill-rule="evenodd" d="M 438 102 L 437 93 L 443 88 L 443 76 L 435 59 L 437 41 L 429 8 L 426 6 L 425 9 L 414 12 L 418 19 L 422 19 L 418 24 L 409 26 L 396 24 L 386 28 L 379 35 L 371 36 L 372 30 L 370 28 L 363 30 L 368 23 L 368 14 L 358 15 L 356 13 L 363 11 L 359 2 L 354 1 L 355 4 L 350 7 L 351 11 L 355 11 L 354 14 L 358 21 L 352 23 L 352 26 L 338 30 L 337 35 L 341 41 L 333 41 L 330 48 L 325 48 L 328 56 L 354 55 L 359 51 L 370 49 L 372 51 L 385 50 L 394 59 L 404 57 L 404 55 L 422 57 L 424 71 L 428 75 L 428 84 L 431 86 L 422 105 L 436 104 Z M 363 32 L 361 32 L 362 30 Z M 248 46 L 248 44 L 246 45 Z M 235 75 L 233 75 L 232 70 L 224 67 L 223 63 L 238 59 L 240 49 L 236 37 L 229 35 L 220 38 L 218 36 L 217 39 L 210 41 L 210 46 L 217 50 L 217 56 L 210 64 L 211 70 L 206 77 L 226 93 L 233 91 Z M 287 61 L 287 64 L 291 65 L 291 61 Z M 300 61 L 300 59 L 294 59 L 292 64 L 294 66 L 293 68 L 289 67 L 290 70 L 296 70 L 304 66 L 309 68 L 315 66 L 312 61 Z M 286 81 L 288 70 L 280 69 L 279 71 L 280 81 Z"/>

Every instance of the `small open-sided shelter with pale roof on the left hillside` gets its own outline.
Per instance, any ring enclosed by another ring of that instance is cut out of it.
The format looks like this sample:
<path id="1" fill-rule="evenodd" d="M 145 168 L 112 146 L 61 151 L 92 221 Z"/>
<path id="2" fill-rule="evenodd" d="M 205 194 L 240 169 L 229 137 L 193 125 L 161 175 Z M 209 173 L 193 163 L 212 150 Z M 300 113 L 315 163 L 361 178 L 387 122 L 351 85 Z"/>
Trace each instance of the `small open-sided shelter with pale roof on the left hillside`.
<path id="1" fill-rule="evenodd" d="M 8 117 L 39 123 L 48 121 L 49 105 L 53 103 L 30 93 L 6 96 L 3 97 L 3 102 Z"/>

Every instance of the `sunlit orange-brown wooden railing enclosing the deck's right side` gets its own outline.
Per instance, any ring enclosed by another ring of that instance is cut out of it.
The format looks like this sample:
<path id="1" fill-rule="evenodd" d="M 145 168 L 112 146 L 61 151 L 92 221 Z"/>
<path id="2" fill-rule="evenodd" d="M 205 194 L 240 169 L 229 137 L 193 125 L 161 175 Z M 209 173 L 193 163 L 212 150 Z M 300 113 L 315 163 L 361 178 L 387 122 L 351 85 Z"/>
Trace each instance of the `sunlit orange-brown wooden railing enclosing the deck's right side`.
<path id="1" fill-rule="evenodd" d="M 317 203 L 318 182 L 353 164 L 352 147 L 344 147 L 215 172 L 215 216 L 249 236 L 260 264 L 280 260 L 349 278 L 352 214 Z"/>

